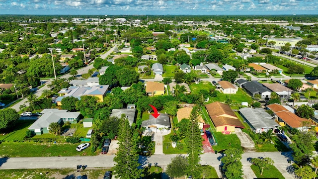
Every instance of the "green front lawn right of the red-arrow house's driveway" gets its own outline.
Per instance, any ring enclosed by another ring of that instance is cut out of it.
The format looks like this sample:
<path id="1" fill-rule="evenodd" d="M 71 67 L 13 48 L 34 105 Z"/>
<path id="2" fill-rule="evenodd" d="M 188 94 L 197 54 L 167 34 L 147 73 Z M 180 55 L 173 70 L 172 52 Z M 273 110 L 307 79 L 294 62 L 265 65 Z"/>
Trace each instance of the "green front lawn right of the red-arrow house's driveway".
<path id="1" fill-rule="evenodd" d="M 177 147 L 173 148 L 171 146 L 171 140 L 170 135 L 172 135 L 173 132 L 171 132 L 168 135 L 162 136 L 162 146 L 163 146 L 163 154 L 186 154 L 185 149 L 185 143 L 183 140 L 179 141 L 177 143 Z"/>

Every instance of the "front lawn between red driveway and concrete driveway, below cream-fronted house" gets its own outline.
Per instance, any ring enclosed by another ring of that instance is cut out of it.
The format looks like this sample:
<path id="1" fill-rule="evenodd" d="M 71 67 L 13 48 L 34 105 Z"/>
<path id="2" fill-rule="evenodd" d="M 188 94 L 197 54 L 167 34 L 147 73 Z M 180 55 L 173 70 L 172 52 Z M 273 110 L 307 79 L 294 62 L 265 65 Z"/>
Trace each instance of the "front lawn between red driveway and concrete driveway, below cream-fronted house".
<path id="1" fill-rule="evenodd" d="M 222 151 L 229 148 L 240 149 L 240 141 L 236 134 L 224 135 L 221 132 L 213 131 L 214 136 L 218 142 L 217 146 L 212 146 L 215 151 Z M 230 146 L 231 143 L 231 146 Z"/>

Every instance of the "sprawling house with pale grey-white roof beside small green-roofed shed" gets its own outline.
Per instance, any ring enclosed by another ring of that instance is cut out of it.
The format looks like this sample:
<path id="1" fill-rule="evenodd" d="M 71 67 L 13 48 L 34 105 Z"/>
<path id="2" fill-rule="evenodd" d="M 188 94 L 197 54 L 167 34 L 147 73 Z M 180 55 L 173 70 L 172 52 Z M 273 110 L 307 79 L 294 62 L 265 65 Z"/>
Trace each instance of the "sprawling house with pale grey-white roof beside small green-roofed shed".
<path id="1" fill-rule="evenodd" d="M 64 122 L 77 123 L 80 113 L 59 109 L 43 109 L 41 114 L 42 115 L 28 128 L 36 135 L 49 133 L 51 123 L 59 123 L 60 125 L 63 125 Z"/>

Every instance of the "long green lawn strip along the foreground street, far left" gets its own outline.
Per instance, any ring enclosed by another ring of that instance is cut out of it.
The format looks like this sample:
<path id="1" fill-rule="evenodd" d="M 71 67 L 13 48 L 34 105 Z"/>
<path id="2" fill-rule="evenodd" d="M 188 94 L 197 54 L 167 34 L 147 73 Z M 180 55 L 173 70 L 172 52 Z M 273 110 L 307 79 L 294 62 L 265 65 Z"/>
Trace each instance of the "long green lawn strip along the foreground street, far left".
<path id="1" fill-rule="evenodd" d="M 2 142 L 0 156 L 7 157 L 52 157 L 52 156 L 93 156 L 91 147 L 78 152 L 79 144 L 54 144 L 35 142 Z"/>

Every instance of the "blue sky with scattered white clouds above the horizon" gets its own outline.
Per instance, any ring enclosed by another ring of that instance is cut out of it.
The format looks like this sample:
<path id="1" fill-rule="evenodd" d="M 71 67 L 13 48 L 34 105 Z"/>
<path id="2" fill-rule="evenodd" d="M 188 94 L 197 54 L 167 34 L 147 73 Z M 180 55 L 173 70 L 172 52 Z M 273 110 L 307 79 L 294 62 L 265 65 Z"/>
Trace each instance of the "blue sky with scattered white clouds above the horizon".
<path id="1" fill-rule="evenodd" d="M 318 14 L 318 0 L 0 0 L 0 14 Z"/>

